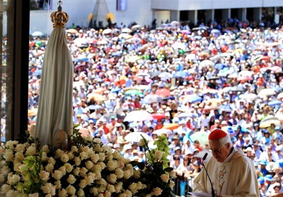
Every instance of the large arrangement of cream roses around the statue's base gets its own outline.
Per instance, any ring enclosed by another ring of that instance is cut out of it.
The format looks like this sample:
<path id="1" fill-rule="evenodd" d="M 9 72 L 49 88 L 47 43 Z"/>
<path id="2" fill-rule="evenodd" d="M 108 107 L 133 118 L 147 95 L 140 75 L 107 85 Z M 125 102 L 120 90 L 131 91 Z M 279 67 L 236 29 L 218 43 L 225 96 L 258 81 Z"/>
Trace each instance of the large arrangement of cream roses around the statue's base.
<path id="1" fill-rule="evenodd" d="M 0 146 L 1 193 L 6 196 L 173 196 L 166 136 L 159 136 L 154 150 L 141 139 L 146 164 L 125 159 L 99 138 L 82 137 L 76 126 L 62 148 L 41 147 L 28 132 L 25 136 Z"/>

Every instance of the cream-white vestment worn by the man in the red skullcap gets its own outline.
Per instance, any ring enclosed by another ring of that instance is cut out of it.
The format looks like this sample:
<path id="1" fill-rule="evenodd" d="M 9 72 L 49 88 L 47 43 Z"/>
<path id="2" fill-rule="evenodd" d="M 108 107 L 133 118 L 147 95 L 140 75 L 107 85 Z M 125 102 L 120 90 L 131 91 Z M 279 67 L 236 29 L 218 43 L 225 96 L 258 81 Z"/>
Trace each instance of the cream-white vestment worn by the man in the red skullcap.
<path id="1" fill-rule="evenodd" d="M 215 196 L 260 196 L 255 166 L 243 150 L 233 148 L 221 163 L 212 156 L 204 163 L 215 191 Z M 212 186 L 204 168 L 194 180 L 193 192 L 212 193 Z"/>

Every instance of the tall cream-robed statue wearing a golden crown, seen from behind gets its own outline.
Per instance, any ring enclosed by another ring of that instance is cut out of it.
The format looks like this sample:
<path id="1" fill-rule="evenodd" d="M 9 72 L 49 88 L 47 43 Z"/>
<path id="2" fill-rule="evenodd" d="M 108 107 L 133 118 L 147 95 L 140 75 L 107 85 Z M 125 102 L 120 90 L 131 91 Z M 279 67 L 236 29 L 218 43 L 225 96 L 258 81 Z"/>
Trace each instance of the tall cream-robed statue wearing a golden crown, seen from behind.
<path id="1" fill-rule="evenodd" d="M 68 15 L 62 11 L 61 4 L 58 11 L 51 14 L 54 28 L 43 59 L 35 126 L 35 138 L 39 139 L 40 145 L 62 145 L 73 131 L 74 65 L 64 29 Z"/>

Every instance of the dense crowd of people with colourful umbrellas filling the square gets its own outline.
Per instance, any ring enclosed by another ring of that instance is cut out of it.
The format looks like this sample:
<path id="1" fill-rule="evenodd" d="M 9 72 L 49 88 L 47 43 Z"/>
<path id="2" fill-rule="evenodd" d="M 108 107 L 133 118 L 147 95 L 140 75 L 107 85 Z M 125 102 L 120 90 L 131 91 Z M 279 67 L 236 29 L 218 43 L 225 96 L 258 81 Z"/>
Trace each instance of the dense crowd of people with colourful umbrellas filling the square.
<path id="1" fill-rule="evenodd" d="M 190 29 L 174 21 L 156 29 L 68 29 L 67 40 L 74 61 L 73 119 L 83 134 L 143 161 L 137 138 L 127 136 L 144 133 L 154 148 L 165 133 L 178 174 L 174 193 L 185 196 L 209 153 L 205 136 L 222 129 L 253 161 L 260 195 L 282 193 L 281 27 Z M 46 45 L 41 37 L 30 40 L 30 125 Z"/>

